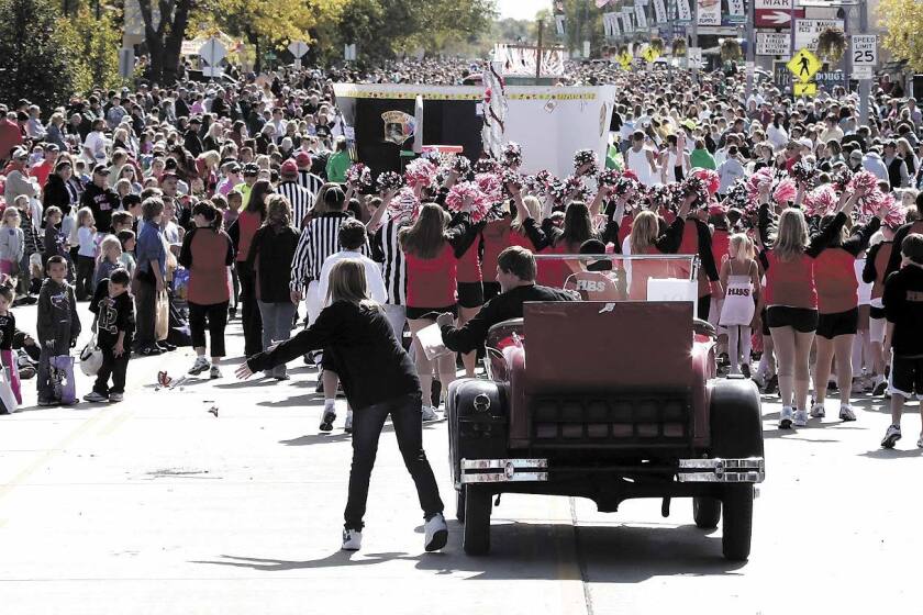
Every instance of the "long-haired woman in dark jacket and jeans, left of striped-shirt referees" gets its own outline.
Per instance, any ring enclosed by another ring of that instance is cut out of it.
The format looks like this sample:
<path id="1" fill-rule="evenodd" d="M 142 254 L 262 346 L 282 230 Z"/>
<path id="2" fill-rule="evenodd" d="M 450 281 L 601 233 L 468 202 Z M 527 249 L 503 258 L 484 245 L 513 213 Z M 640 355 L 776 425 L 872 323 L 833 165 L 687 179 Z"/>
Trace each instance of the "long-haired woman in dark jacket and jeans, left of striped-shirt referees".
<path id="1" fill-rule="evenodd" d="M 298 304 L 291 301 L 291 261 L 298 247 L 298 232 L 291 225 L 291 203 L 281 194 L 269 197 L 266 220 L 253 236 L 247 269 L 256 275 L 256 300 L 263 318 L 263 349 L 288 339 Z M 286 366 L 267 370 L 268 378 L 288 380 Z"/>

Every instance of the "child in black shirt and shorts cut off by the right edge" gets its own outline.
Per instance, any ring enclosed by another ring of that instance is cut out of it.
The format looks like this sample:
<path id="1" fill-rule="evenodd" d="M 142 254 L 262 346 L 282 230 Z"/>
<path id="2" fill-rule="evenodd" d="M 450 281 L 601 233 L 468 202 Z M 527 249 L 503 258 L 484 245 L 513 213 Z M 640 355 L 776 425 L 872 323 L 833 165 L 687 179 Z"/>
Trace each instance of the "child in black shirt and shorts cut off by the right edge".
<path id="1" fill-rule="evenodd" d="M 901 257 L 901 269 L 888 277 L 882 297 L 891 340 L 891 426 L 881 440 L 885 448 L 901 439 L 903 404 L 914 392 L 923 417 L 923 235 L 904 237 Z M 923 435 L 916 446 L 923 448 Z"/>

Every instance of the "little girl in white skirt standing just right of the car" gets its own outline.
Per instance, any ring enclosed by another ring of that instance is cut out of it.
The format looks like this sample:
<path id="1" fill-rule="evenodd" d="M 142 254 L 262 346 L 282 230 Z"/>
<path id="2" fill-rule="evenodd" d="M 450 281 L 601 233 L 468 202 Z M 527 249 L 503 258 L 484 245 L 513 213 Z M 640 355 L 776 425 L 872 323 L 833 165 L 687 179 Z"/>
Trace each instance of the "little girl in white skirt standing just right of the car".
<path id="1" fill-rule="evenodd" d="M 719 322 L 727 328 L 731 373 L 749 378 L 750 323 L 756 311 L 754 300 L 759 297 L 759 267 L 753 258 L 750 241 L 743 233 L 731 236 L 727 254 L 731 258 L 721 266 L 721 287 L 726 290 Z"/>

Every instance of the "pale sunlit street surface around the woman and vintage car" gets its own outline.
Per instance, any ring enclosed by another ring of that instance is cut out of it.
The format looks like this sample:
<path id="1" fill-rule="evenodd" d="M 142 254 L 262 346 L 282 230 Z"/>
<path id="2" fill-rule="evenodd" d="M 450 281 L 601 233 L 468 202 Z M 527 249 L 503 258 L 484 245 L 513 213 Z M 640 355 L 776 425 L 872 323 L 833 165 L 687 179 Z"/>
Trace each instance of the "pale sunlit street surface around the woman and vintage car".
<path id="1" fill-rule="evenodd" d="M 16 317 L 32 328 L 34 308 Z M 238 322 L 229 345 L 241 351 Z M 451 538 L 425 554 L 386 427 L 351 555 L 338 550 L 351 443 L 342 412 L 318 432 L 314 371 L 240 383 L 229 366 L 219 381 L 155 390 L 158 370 L 191 362 L 189 349 L 132 360 L 111 405 L 37 409 L 26 381 L 25 407 L 0 416 L 0 613 L 923 613 L 915 412 L 885 451 L 882 401 L 860 398 L 858 422 L 842 424 L 831 400 L 829 418 L 780 433 L 766 398 L 768 476 L 743 564 L 722 559 L 720 530 L 697 529 L 688 501 L 663 518 L 659 501 L 601 514 L 524 495 L 494 508 L 492 554 L 466 557 L 444 421 L 424 443 Z"/>

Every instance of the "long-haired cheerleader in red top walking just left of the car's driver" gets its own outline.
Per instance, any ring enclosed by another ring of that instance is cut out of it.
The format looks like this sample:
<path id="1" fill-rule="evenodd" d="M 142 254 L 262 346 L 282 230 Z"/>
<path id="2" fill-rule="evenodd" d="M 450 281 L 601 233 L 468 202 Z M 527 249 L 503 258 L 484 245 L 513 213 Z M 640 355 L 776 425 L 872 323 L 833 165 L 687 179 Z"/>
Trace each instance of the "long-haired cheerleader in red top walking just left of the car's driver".
<path id="1" fill-rule="evenodd" d="M 412 226 L 399 235 L 407 262 L 407 318 L 414 336 L 414 354 L 424 403 L 432 400 L 433 364 L 416 339 L 416 333 L 433 324 L 442 313 L 458 315 L 458 261 L 480 227 L 472 227 L 467 215 L 449 221 L 448 214 L 435 203 L 420 208 L 420 215 Z M 444 355 L 435 359 L 444 393 L 455 380 L 455 359 Z M 436 413 L 431 405 L 423 406 L 423 420 L 432 421 Z"/>

